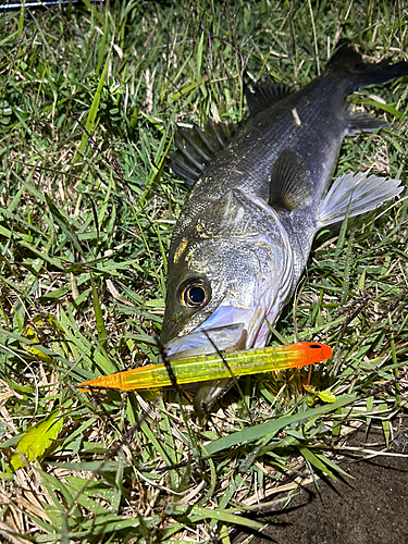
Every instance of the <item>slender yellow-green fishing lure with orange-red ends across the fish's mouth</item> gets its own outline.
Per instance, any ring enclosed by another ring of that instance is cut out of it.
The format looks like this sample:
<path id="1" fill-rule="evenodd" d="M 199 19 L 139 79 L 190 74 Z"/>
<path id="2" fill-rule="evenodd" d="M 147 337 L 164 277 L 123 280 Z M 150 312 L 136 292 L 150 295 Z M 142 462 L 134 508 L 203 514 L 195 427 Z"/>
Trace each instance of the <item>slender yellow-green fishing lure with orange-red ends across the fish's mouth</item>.
<path id="1" fill-rule="evenodd" d="M 325 344 L 298 342 L 287 346 L 247 349 L 231 354 L 212 354 L 185 357 L 171 363 L 172 372 L 180 385 L 306 367 L 330 359 L 332 348 Z M 88 390 L 149 390 L 171 385 L 169 372 L 163 363 L 125 370 L 96 380 L 83 382 L 79 391 Z"/>

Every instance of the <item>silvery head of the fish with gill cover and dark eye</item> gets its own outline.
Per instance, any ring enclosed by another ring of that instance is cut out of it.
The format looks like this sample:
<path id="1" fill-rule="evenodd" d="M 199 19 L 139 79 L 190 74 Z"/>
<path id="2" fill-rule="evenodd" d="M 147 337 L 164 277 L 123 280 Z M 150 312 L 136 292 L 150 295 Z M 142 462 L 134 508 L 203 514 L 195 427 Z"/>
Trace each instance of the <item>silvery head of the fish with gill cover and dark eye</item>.
<path id="1" fill-rule="evenodd" d="M 161 342 L 171 360 L 262 346 L 287 300 L 294 259 L 263 200 L 233 189 L 172 242 Z"/>

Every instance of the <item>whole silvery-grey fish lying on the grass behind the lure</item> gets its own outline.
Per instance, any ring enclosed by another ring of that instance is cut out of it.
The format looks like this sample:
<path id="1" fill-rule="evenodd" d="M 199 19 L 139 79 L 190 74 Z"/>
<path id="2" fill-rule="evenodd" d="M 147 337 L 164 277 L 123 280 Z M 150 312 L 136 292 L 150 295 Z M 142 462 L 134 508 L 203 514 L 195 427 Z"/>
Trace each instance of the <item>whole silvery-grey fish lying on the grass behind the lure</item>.
<path id="1" fill-rule="evenodd" d="M 345 98 L 406 75 L 405 61 L 366 63 L 341 40 L 304 88 L 247 87 L 249 116 L 240 126 L 178 128 L 172 169 L 190 193 L 168 256 L 160 339 L 171 361 L 265 346 L 318 231 L 403 190 L 399 180 L 361 172 L 331 181 L 346 136 L 386 126 L 351 113 Z M 196 410 L 210 409 L 227 383 L 202 383 Z"/>

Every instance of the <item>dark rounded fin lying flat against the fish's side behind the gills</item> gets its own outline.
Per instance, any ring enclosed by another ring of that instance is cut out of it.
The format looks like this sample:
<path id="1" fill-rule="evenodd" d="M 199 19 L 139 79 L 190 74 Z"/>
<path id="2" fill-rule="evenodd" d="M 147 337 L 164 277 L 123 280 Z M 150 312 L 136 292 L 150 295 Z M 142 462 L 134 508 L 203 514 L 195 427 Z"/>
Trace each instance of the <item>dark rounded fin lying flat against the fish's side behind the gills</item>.
<path id="1" fill-rule="evenodd" d="M 304 160 L 294 149 L 284 149 L 272 170 L 269 205 L 290 212 L 306 206 L 311 197 L 310 173 Z"/>

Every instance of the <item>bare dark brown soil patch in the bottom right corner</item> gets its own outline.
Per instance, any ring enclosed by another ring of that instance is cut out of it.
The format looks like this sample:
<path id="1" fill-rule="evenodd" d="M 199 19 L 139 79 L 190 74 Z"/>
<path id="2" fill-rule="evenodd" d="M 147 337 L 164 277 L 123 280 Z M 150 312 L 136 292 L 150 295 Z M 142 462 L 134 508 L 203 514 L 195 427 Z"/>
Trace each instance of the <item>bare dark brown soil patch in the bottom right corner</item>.
<path id="1" fill-rule="evenodd" d="M 353 479 L 302 489 L 251 544 L 408 544 L 408 419 L 394 429 L 392 455 L 339 462 Z M 357 432 L 349 445 L 383 442 L 376 428 L 369 436 Z"/>

